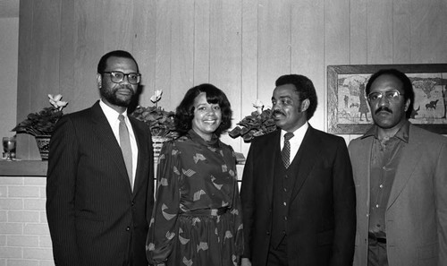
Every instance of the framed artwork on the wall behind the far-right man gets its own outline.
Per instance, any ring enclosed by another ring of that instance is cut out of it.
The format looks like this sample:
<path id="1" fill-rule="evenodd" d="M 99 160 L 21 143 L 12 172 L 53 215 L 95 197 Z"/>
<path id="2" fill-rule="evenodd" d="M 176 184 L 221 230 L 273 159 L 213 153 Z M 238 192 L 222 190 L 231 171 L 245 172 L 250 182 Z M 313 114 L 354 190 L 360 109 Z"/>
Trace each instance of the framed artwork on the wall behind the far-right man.
<path id="1" fill-rule="evenodd" d="M 447 133 L 447 64 L 328 65 L 328 132 L 367 132 L 373 124 L 365 90 L 367 81 L 384 68 L 406 73 L 413 83 L 415 102 L 409 121 L 434 133 Z"/>

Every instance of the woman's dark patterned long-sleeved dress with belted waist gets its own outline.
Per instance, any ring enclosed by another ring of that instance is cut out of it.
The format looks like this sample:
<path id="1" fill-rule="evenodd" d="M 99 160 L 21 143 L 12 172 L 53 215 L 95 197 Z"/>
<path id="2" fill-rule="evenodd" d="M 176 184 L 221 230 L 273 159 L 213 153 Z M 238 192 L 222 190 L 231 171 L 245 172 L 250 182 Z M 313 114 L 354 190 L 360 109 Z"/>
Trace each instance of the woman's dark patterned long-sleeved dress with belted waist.
<path id="1" fill-rule="evenodd" d="M 149 263 L 237 265 L 243 252 L 236 158 L 216 137 L 193 130 L 165 142 L 158 159 Z"/>

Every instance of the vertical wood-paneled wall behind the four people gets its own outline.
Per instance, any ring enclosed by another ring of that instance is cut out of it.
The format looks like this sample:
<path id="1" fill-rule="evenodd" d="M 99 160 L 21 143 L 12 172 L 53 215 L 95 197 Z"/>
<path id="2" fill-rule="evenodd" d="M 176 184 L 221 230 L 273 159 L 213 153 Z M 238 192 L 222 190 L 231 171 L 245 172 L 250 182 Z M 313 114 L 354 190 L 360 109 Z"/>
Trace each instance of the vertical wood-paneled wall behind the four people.
<path id="1" fill-rule="evenodd" d="M 327 65 L 446 63 L 446 13 L 447 0 L 22 0 L 17 119 L 46 107 L 48 93 L 63 94 L 65 112 L 91 106 L 100 56 L 125 49 L 139 62 L 143 106 L 163 90 L 159 105 L 172 110 L 211 82 L 235 125 L 256 99 L 270 106 L 278 76 L 301 73 L 319 100 L 310 122 L 325 130 Z M 38 159 L 35 146 L 21 135 L 21 158 Z"/>

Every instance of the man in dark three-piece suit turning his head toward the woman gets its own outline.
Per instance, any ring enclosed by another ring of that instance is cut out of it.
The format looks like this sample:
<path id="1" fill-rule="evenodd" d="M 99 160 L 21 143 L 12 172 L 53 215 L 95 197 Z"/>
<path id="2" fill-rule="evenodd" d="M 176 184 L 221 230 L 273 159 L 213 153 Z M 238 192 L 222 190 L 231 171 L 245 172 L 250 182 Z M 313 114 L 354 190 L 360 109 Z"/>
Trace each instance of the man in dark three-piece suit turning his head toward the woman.
<path id="1" fill-rule="evenodd" d="M 356 195 L 346 143 L 308 124 L 316 90 L 307 77 L 281 76 L 272 104 L 280 130 L 253 140 L 244 167 L 242 265 L 350 265 Z"/>

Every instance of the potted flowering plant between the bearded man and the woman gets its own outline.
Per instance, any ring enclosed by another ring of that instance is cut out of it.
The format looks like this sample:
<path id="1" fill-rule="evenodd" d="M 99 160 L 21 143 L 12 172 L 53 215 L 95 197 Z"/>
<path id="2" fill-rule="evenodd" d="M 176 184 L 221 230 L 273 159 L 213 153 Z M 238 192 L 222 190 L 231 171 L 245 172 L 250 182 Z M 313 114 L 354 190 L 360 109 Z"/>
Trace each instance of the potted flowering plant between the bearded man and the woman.
<path id="1" fill-rule="evenodd" d="M 175 131 L 174 112 L 165 111 L 157 105 L 157 102 L 162 98 L 162 94 L 162 90 L 156 90 L 155 94 L 150 98 L 155 106 L 139 106 L 131 113 L 131 116 L 147 124 L 152 136 L 175 139 L 178 137 L 178 133 Z"/>

